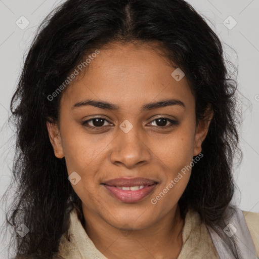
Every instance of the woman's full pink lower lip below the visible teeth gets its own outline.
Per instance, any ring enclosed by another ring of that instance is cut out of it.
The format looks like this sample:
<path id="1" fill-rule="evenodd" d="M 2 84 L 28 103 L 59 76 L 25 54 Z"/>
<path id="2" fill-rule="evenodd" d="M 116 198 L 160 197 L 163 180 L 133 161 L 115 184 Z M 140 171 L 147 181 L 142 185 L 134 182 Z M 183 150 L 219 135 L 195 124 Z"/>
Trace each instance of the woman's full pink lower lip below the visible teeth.
<path id="1" fill-rule="evenodd" d="M 139 189 L 137 191 L 131 191 L 131 190 L 121 190 L 116 188 L 115 186 L 109 186 L 103 184 L 103 186 L 118 200 L 125 202 L 125 203 L 131 203 L 131 202 L 138 202 L 147 197 L 152 190 L 156 187 L 156 184 L 144 186 L 144 188 Z"/>

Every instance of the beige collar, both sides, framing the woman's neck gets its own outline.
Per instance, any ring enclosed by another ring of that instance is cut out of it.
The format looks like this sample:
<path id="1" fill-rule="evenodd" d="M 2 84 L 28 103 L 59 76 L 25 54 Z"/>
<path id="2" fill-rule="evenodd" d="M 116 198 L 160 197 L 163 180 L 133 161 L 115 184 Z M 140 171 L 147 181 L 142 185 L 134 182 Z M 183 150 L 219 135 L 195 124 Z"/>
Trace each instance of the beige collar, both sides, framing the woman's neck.
<path id="1" fill-rule="evenodd" d="M 59 253 L 55 258 L 62 259 L 108 259 L 94 245 L 85 232 L 75 210 L 70 212 L 69 238 L 64 234 L 60 240 Z M 182 232 L 183 246 L 178 259 L 219 259 L 209 232 L 200 222 L 198 212 L 189 210 Z M 111 258 L 109 258 L 111 259 Z"/>

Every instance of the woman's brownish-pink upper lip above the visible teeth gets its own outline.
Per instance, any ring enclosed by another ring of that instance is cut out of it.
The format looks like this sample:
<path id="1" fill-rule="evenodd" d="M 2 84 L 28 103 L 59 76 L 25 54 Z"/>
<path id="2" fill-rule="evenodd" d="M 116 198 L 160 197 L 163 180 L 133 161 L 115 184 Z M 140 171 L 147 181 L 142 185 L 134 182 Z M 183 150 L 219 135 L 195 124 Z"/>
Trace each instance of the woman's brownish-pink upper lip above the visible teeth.
<path id="1" fill-rule="evenodd" d="M 141 186 L 141 185 L 153 185 L 157 184 L 155 180 L 142 178 L 142 177 L 135 177 L 135 178 L 115 178 L 111 179 L 103 184 L 110 185 L 110 186 Z"/>

